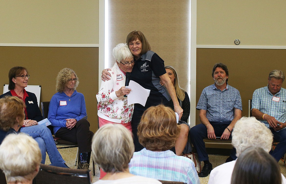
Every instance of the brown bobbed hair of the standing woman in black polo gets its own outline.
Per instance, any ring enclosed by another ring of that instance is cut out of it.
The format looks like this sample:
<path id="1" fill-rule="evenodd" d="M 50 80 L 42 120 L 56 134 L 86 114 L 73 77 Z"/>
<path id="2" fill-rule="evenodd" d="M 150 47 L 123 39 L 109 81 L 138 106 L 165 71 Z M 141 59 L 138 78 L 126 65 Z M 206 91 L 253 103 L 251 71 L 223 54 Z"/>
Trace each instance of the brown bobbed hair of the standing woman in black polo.
<path id="1" fill-rule="evenodd" d="M 126 43 L 127 45 L 129 45 L 129 42 L 132 42 L 136 39 L 139 39 L 142 43 L 142 50 L 140 55 L 145 54 L 147 51 L 151 50 L 151 46 L 149 44 L 149 42 L 147 41 L 146 37 L 144 36 L 144 34 L 141 31 L 131 31 L 126 38 Z"/>

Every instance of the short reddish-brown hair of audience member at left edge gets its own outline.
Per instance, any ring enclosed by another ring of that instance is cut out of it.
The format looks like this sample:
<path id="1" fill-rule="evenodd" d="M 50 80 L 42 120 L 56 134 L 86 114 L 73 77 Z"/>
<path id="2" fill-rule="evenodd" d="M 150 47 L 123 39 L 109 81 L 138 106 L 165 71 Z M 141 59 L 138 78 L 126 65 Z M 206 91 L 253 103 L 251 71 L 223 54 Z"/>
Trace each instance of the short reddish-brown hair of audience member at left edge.
<path id="1" fill-rule="evenodd" d="M 14 125 L 22 126 L 25 118 L 23 100 L 18 97 L 5 96 L 0 99 L 0 128 L 8 131 Z M 18 118 L 18 120 L 17 120 Z M 21 121 L 21 122 L 19 122 Z"/>

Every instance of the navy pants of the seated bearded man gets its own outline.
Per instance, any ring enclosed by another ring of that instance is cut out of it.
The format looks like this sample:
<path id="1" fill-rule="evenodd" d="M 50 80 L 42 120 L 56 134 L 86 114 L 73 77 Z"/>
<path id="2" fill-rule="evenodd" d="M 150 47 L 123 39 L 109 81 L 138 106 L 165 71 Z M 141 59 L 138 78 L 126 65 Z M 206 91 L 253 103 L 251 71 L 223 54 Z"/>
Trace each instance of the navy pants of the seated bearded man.
<path id="1" fill-rule="evenodd" d="M 225 128 L 229 126 L 231 121 L 226 122 L 210 122 L 212 127 L 214 128 L 216 137 L 221 137 L 223 132 L 225 131 Z M 192 144 L 194 145 L 197 153 L 198 153 L 198 160 L 199 161 L 206 161 L 208 160 L 208 153 L 206 153 L 206 145 L 204 144 L 204 138 L 208 137 L 207 129 L 204 124 L 198 124 L 191 128 L 190 130 L 190 137 L 192 140 Z M 231 138 L 231 136 L 230 136 Z M 235 148 L 231 150 L 230 157 L 232 159 L 236 159 L 236 151 Z"/>

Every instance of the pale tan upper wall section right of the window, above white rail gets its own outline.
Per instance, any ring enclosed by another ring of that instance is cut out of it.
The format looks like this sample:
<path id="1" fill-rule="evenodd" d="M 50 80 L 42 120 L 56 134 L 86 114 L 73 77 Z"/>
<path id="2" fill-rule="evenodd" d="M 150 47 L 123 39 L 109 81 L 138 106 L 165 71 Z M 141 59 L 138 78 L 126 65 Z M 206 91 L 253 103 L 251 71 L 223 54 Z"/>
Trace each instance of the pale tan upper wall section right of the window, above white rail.
<path id="1" fill-rule="evenodd" d="M 197 45 L 285 45 L 286 1 L 197 0 Z"/>

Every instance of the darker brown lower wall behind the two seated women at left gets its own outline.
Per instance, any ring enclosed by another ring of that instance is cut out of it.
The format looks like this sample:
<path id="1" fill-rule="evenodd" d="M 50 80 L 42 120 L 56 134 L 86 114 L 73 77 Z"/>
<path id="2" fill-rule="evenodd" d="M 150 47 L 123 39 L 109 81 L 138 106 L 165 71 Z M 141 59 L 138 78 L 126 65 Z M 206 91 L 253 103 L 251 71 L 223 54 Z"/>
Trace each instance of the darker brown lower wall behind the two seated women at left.
<path id="1" fill-rule="evenodd" d="M 80 80 L 77 91 L 85 97 L 90 130 L 98 129 L 98 47 L 0 47 L 0 53 L 0 86 L 9 83 L 10 68 L 26 67 L 29 85 L 41 85 L 40 102 L 50 101 L 56 93 L 57 73 L 65 67 L 73 69 Z"/>

